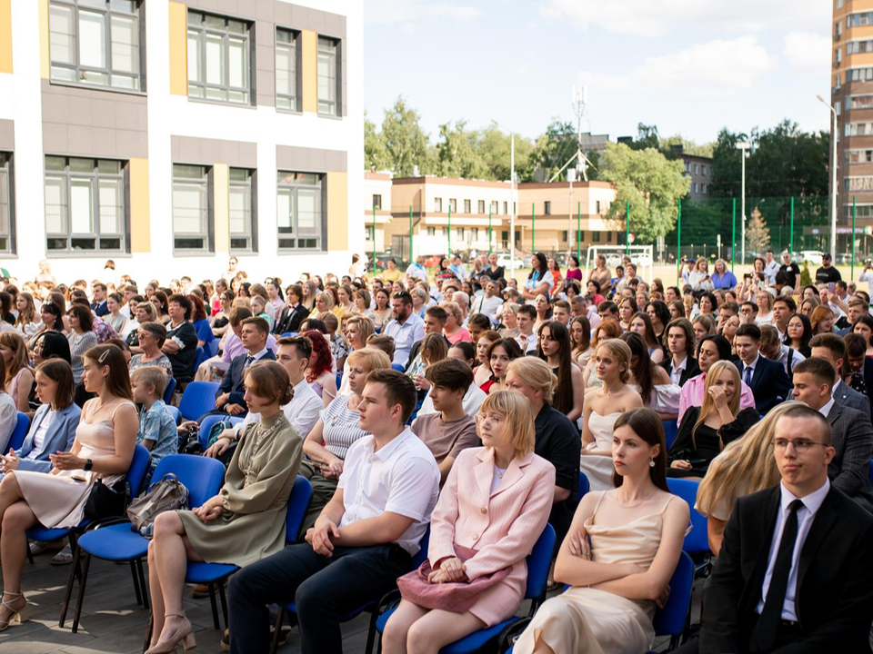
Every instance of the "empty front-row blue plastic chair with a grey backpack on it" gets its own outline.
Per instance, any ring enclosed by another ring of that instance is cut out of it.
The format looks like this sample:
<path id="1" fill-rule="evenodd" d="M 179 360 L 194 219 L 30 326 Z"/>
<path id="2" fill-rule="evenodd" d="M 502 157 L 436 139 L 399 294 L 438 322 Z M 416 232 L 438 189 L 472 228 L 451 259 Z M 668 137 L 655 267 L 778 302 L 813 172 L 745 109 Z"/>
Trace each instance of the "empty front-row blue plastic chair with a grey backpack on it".
<path id="1" fill-rule="evenodd" d="M 145 448 L 143 449 L 145 450 Z M 175 474 L 176 479 L 181 481 L 188 490 L 187 508 L 189 509 L 196 509 L 206 500 L 214 497 L 225 481 L 225 467 L 220 461 L 191 454 L 170 454 L 164 457 L 157 464 L 152 479 L 160 481 L 168 473 Z M 148 553 L 149 541 L 131 530 L 130 527 L 130 521 L 119 519 L 105 527 L 85 531 L 79 538 L 76 558 L 84 554 L 85 566 L 79 581 L 79 596 L 73 617 L 73 633 L 79 628 L 79 617 L 82 614 L 82 604 L 85 599 L 85 582 L 88 578 L 88 568 L 92 557 L 129 562 L 131 575 L 134 579 L 136 603 L 142 604 L 145 609 L 148 609 L 148 591 L 146 590 L 146 576 L 143 572 L 143 559 Z M 66 592 L 65 607 L 68 605 L 73 592 L 73 573 L 70 575 L 70 583 Z M 66 609 L 61 616 L 61 627 L 64 626 L 65 616 Z"/>

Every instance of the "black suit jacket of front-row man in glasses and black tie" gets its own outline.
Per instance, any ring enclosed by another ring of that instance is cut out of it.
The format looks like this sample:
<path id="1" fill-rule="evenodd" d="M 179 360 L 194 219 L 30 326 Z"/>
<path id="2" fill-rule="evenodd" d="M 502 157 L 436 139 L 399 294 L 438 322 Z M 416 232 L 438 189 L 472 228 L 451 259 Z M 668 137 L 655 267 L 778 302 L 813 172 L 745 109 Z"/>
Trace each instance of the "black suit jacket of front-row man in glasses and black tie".
<path id="1" fill-rule="evenodd" d="M 737 500 L 703 603 L 701 654 L 748 652 L 781 499 L 779 486 Z M 869 652 L 873 516 L 831 485 L 800 550 L 801 635 L 784 654 Z"/>

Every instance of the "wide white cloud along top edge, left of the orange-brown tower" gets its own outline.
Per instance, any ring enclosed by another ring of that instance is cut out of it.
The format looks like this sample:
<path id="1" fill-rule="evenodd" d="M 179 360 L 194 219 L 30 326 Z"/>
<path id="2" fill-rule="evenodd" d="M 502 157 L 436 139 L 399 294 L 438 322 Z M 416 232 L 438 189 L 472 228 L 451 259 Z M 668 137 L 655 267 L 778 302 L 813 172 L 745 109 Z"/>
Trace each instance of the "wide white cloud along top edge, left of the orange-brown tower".
<path id="1" fill-rule="evenodd" d="M 581 29 L 645 36 L 714 27 L 758 32 L 773 25 L 829 30 L 830 3 L 822 0 L 548 0 L 540 13 L 569 19 Z"/>

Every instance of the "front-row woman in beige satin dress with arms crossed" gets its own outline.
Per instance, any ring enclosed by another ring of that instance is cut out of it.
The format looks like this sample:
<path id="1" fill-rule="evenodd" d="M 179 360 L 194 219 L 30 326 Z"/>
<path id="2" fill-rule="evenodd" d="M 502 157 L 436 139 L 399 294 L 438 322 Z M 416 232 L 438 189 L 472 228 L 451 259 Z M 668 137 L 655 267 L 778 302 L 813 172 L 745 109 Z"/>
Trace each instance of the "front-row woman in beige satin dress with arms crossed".
<path id="1" fill-rule="evenodd" d="M 555 563 L 571 589 L 548 599 L 516 654 L 641 654 L 651 649 L 657 605 L 667 600 L 688 525 L 667 489 L 664 429 L 647 408 L 622 413 L 612 438 L 617 488 L 579 502 Z"/>

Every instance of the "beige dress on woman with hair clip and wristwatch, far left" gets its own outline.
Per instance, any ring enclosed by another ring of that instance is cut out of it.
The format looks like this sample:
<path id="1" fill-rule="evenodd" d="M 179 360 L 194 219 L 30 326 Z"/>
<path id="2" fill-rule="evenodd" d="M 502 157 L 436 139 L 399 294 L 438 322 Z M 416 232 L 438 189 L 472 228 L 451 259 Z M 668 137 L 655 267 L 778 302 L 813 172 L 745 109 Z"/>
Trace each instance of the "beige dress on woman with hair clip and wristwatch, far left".
<path id="1" fill-rule="evenodd" d="M 132 401 L 121 401 L 109 418 L 90 422 L 94 418 L 94 411 L 87 410 L 93 406 L 93 402 L 85 404 L 86 411 L 75 428 L 75 442 L 80 446 L 78 455 L 92 460 L 114 457 L 115 428 L 112 421 L 115 420 L 115 412 L 123 406 L 136 407 Z M 15 471 L 15 479 L 27 505 L 34 512 L 36 520 L 48 529 L 75 527 L 82 521 L 85 502 L 97 479 L 102 479 L 106 486 L 112 486 L 124 478 L 124 474 L 101 475 L 83 470 L 58 471 L 57 474 Z"/>

